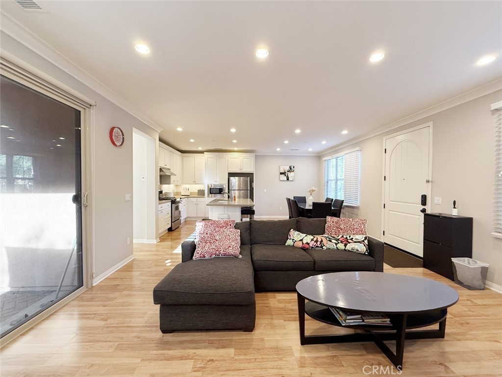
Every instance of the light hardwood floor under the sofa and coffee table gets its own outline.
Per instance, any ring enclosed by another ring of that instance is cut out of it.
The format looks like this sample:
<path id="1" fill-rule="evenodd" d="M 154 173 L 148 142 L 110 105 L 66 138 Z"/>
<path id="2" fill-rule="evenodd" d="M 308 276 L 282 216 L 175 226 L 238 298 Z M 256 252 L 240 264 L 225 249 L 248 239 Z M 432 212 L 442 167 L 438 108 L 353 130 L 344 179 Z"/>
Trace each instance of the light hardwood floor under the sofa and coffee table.
<path id="1" fill-rule="evenodd" d="M 162 334 L 152 290 L 180 262 L 175 249 L 194 228 L 189 221 L 158 244 L 135 245 L 136 259 L 3 347 L 0 375 L 332 377 L 364 376 L 365 365 L 398 373 L 373 343 L 301 346 L 295 293 L 257 294 L 252 333 Z M 445 339 L 406 341 L 401 375 L 502 375 L 502 295 L 468 291 L 424 268 L 385 271 L 432 278 L 460 295 L 448 311 Z M 311 319 L 306 330 L 350 331 Z"/>

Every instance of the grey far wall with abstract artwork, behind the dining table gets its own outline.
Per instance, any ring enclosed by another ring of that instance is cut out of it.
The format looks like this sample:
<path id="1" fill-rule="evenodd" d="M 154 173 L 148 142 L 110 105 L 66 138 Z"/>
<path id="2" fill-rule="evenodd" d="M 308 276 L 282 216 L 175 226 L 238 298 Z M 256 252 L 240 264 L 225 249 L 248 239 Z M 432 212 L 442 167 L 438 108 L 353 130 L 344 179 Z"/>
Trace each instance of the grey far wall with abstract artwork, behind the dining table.
<path id="1" fill-rule="evenodd" d="M 294 165 L 295 180 L 279 180 L 279 166 Z M 312 186 L 318 191 L 313 195 L 315 201 L 322 201 L 321 180 L 319 176 L 319 157 L 317 156 L 255 156 L 255 210 L 256 217 L 288 217 L 286 197 L 309 196 Z M 267 190 L 267 192 L 264 192 Z M 282 210 L 280 209 L 282 207 Z"/>

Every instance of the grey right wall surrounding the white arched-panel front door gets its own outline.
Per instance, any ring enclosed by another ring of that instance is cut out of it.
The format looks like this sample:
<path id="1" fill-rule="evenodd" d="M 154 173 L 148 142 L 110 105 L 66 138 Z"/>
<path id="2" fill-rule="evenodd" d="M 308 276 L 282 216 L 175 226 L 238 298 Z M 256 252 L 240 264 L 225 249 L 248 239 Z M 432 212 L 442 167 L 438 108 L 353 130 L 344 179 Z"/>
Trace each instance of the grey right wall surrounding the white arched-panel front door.
<path id="1" fill-rule="evenodd" d="M 472 257 L 489 263 L 487 280 L 502 286 L 502 239 L 490 235 L 495 130 L 490 105 L 500 99 L 502 90 L 497 90 L 336 150 L 361 148 L 361 206 L 349 217 L 367 219 L 368 234 L 381 238 L 383 137 L 433 122 L 431 197 L 441 197 L 442 204 L 431 202 L 431 212 L 451 213 L 456 200 L 458 214 L 473 218 Z"/>

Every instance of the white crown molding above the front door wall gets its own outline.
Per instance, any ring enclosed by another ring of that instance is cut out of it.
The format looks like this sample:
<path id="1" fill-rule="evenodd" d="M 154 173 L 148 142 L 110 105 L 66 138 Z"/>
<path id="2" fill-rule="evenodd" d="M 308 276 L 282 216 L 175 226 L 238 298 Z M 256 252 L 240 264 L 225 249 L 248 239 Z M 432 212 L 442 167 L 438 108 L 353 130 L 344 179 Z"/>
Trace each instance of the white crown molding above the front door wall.
<path id="1" fill-rule="evenodd" d="M 500 89 L 502 89 L 502 78 L 499 78 L 495 81 L 489 82 L 486 85 L 483 85 L 483 86 L 480 86 L 476 89 L 470 90 L 466 93 L 461 94 L 460 96 L 454 97 L 454 98 L 447 100 L 447 101 L 444 101 L 444 102 L 441 102 L 440 104 L 434 105 L 434 106 L 427 108 L 425 110 L 421 110 L 418 113 L 409 115 L 409 116 L 407 116 L 403 119 L 400 119 L 396 122 L 390 123 L 390 124 L 385 125 L 383 127 L 379 127 L 372 132 L 369 132 L 369 133 L 364 134 L 362 136 L 347 140 L 346 142 L 335 145 L 334 147 L 325 149 L 324 151 L 321 151 L 319 153 L 319 155 L 323 156 L 325 154 L 332 153 L 338 149 L 344 148 L 346 146 L 352 145 L 352 144 L 357 143 L 362 140 L 369 139 L 370 137 L 383 134 L 387 131 L 391 131 L 395 128 L 398 128 L 398 127 L 407 125 L 409 123 L 418 121 L 420 119 L 437 114 L 441 111 L 450 109 L 452 107 L 455 107 L 455 106 L 464 104 L 466 102 L 475 100 L 476 98 L 485 96 L 489 93 L 492 93 L 492 92 L 494 92 L 496 90 L 500 90 Z M 500 103 L 502 103 L 502 101 Z M 496 104 L 499 104 L 499 102 L 497 102 Z M 493 105 L 496 105 L 496 104 L 493 104 Z M 491 105 L 492 108 L 493 108 L 493 105 Z"/>

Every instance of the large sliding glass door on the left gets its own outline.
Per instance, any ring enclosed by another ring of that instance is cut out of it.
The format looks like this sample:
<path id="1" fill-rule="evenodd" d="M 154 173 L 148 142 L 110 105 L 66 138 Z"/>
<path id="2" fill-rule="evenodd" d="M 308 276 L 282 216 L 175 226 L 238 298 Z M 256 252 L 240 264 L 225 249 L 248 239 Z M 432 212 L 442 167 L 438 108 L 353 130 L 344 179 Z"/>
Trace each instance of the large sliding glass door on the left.
<path id="1" fill-rule="evenodd" d="M 83 286 L 81 112 L 0 76 L 0 330 Z"/>

